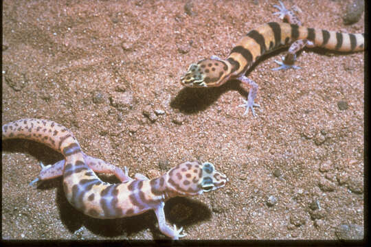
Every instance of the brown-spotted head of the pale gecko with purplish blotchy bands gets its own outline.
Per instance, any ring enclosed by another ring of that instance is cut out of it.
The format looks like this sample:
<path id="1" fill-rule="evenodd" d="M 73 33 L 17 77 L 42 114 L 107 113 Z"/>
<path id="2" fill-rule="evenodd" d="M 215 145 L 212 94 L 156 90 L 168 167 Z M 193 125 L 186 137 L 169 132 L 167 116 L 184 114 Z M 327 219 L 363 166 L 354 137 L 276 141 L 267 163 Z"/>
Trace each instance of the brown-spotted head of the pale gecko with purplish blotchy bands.
<path id="1" fill-rule="evenodd" d="M 186 162 L 170 169 L 168 187 L 176 191 L 178 196 L 194 196 L 203 192 L 214 191 L 224 187 L 227 176 L 216 171 L 209 162 Z"/>

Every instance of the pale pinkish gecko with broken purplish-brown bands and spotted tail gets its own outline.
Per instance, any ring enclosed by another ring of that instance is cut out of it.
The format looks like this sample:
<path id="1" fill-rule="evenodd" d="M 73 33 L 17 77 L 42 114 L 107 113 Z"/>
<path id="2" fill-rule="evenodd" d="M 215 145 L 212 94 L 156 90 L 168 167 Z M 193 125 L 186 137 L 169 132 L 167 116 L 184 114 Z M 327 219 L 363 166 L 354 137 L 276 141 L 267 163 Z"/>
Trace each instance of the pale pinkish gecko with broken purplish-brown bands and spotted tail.
<path id="1" fill-rule="evenodd" d="M 58 176 L 63 176 L 63 189 L 67 200 L 79 211 L 100 219 L 128 217 L 155 211 L 159 229 L 172 239 L 179 239 L 183 227 L 170 228 L 166 224 L 164 204 L 175 196 L 195 196 L 203 192 L 224 187 L 228 178 L 216 171 L 209 162 L 186 162 L 170 169 L 159 178 L 148 179 L 142 174 L 135 178 L 128 176 L 128 169 L 122 171 L 100 158 L 93 158 L 82 152 L 71 131 L 54 121 L 43 119 L 21 119 L 3 125 L 3 139 L 30 139 L 38 141 L 65 156 L 63 161 L 44 166 L 34 185 Z M 94 172 L 114 174 L 121 183 L 105 183 Z"/>

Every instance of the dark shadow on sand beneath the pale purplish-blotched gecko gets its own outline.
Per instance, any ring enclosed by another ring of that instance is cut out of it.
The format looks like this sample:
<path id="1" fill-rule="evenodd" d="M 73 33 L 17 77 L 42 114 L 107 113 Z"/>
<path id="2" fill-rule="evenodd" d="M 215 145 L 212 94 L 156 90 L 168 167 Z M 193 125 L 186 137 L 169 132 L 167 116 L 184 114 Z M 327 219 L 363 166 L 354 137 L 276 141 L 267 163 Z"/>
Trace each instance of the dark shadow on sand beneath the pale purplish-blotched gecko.
<path id="1" fill-rule="evenodd" d="M 3 151 L 30 154 L 45 165 L 54 164 L 56 161 L 60 161 L 64 158 L 62 154 L 54 151 L 46 145 L 37 143 L 36 141 L 26 139 L 8 139 L 3 140 L 2 144 Z M 38 164 L 34 165 L 36 166 Z M 34 178 L 36 178 L 36 176 L 38 176 L 38 173 L 34 174 Z M 107 176 L 104 174 L 98 174 L 98 176 L 104 180 L 104 182 L 120 183 L 120 181 L 113 175 Z M 27 183 L 28 182 L 31 181 L 27 181 Z M 56 188 L 55 203 L 59 209 L 60 220 L 71 233 L 78 231 L 81 226 L 85 226 L 95 235 L 103 237 L 122 237 L 122 235 L 130 236 L 139 231 L 150 228 L 155 239 L 167 239 L 167 237 L 159 231 L 157 218 L 153 210 L 132 217 L 123 217 L 112 220 L 95 219 L 81 213 L 69 204 L 65 197 L 65 192 L 63 191 L 62 177 L 45 180 L 38 183 L 37 187 L 37 189 L 43 190 L 53 188 Z M 30 189 L 34 188 L 30 187 Z M 211 217 L 211 211 L 207 205 L 189 198 L 171 198 L 166 202 L 164 210 L 168 222 L 167 224 L 170 223 L 171 226 L 172 224 L 176 224 L 178 228 L 180 226 L 190 226 L 196 222 L 208 220 Z"/>

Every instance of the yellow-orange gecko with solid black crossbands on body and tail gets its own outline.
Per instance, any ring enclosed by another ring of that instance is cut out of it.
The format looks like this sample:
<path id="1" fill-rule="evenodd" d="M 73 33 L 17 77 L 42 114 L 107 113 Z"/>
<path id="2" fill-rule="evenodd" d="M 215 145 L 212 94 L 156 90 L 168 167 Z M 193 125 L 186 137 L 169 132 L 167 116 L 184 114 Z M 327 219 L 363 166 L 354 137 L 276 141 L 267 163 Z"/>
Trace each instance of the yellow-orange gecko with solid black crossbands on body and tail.
<path id="1" fill-rule="evenodd" d="M 221 86 L 230 79 L 237 79 L 251 87 L 247 101 L 240 105 L 246 108 L 245 114 L 251 109 L 255 116 L 254 103 L 258 92 L 258 84 L 245 76 L 246 71 L 260 56 L 291 44 L 283 62 L 277 62 L 280 67 L 273 69 L 299 69 L 295 66 L 296 53 L 304 47 L 323 47 L 335 51 L 363 51 L 364 34 L 346 34 L 330 32 L 302 26 L 293 12 L 287 10 L 280 1 L 278 8 L 280 19 L 288 23 L 270 22 L 244 36 L 223 60 L 217 56 L 203 59 L 196 64 L 190 64 L 188 71 L 181 77 L 181 84 L 188 87 Z"/>

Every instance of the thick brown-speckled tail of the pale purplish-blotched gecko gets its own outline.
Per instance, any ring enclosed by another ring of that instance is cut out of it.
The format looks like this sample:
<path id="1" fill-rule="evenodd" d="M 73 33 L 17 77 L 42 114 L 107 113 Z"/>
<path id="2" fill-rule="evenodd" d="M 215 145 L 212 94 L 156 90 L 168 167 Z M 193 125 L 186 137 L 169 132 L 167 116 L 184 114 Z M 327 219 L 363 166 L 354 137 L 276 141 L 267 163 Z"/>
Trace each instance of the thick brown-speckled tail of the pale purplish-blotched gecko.
<path id="1" fill-rule="evenodd" d="M 30 139 L 43 143 L 64 156 L 81 152 L 71 131 L 54 121 L 45 119 L 20 119 L 4 124 L 3 139 Z"/>

